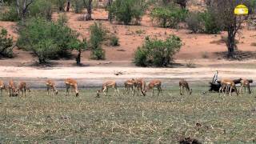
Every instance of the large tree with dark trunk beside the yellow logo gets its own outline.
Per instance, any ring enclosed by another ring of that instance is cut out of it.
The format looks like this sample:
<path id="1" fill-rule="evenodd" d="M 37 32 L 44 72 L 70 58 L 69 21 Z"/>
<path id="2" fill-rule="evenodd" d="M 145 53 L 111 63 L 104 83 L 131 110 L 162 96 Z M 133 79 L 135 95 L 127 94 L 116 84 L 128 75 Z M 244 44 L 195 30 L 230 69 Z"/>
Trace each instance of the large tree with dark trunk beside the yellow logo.
<path id="1" fill-rule="evenodd" d="M 228 58 L 234 58 L 235 36 L 242 27 L 244 18 L 242 16 L 236 16 L 234 14 L 234 8 L 238 4 L 242 3 L 242 0 L 211 0 L 207 4 L 215 10 L 215 14 L 218 15 L 218 22 L 222 25 L 223 29 L 227 31 L 227 50 Z"/>

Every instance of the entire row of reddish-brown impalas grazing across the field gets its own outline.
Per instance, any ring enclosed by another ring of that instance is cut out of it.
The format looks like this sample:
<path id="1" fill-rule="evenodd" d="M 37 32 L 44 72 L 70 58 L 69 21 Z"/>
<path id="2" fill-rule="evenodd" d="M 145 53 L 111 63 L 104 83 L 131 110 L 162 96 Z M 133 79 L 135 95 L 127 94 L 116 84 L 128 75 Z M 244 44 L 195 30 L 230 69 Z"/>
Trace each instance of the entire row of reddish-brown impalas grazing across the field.
<path id="1" fill-rule="evenodd" d="M 241 83 L 241 87 L 239 90 L 237 90 L 237 87 L 235 86 L 234 80 L 228 79 L 228 78 L 223 78 L 220 83 L 221 87 L 218 90 L 218 93 L 220 94 L 230 94 L 232 90 L 238 95 L 239 93 L 242 94 L 242 88 L 248 90 L 249 94 L 251 93 L 250 90 L 250 82 L 247 79 L 238 79 L 239 83 Z M 74 80 L 73 78 L 66 78 L 65 80 L 66 84 L 66 95 L 70 95 L 70 88 L 71 91 L 74 90 L 75 96 L 79 96 L 79 91 L 78 91 L 78 82 Z M 107 95 L 108 90 L 112 88 L 114 89 L 114 96 L 119 93 L 117 82 L 115 81 L 106 81 L 102 84 L 102 89 L 97 90 L 97 96 L 99 98 L 100 93 L 103 93 L 104 95 Z M 151 80 L 148 85 L 146 86 L 146 82 L 144 81 L 143 78 L 132 78 L 124 82 L 124 92 L 123 94 L 129 94 L 130 91 L 132 95 L 134 96 L 135 93 L 138 95 L 146 95 L 146 92 L 149 90 L 152 90 L 151 96 L 154 96 L 154 88 L 158 90 L 158 95 L 162 93 L 162 82 L 160 80 L 154 79 Z M 179 90 L 180 94 L 184 94 L 184 89 L 186 90 L 187 94 L 192 94 L 192 89 L 190 89 L 190 86 L 186 80 L 181 79 L 179 81 Z M 21 96 L 23 97 L 26 96 L 26 90 L 30 92 L 30 88 L 26 86 L 26 82 L 19 82 L 18 86 L 16 86 L 16 83 L 10 79 L 8 86 L 5 86 L 4 82 L 0 80 L 0 92 L 1 96 L 3 95 L 3 90 L 9 90 L 9 96 L 20 96 L 20 91 L 22 92 Z M 46 80 L 46 90 L 47 94 L 49 95 L 50 93 L 52 94 L 58 94 L 58 90 L 56 89 L 56 84 L 52 80 Z M 52 92 L 51 92 L 52 91 Z"/>

